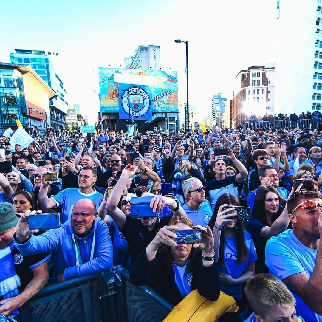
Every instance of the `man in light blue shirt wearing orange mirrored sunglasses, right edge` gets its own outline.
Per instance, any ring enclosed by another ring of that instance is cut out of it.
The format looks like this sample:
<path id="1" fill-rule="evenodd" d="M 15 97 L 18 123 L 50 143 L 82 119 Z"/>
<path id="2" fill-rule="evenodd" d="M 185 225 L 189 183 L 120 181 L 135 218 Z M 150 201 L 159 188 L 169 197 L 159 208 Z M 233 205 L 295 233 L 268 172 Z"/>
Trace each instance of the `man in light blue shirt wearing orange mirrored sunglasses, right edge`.
<path id="1" fill-rule="evenodd" d="M 315 191 L 300 190 L 287 202 L 293 230 L 269 239 L 265 264 L 296 299 L 305 321 L 322 321 L 322 200 Z"/>

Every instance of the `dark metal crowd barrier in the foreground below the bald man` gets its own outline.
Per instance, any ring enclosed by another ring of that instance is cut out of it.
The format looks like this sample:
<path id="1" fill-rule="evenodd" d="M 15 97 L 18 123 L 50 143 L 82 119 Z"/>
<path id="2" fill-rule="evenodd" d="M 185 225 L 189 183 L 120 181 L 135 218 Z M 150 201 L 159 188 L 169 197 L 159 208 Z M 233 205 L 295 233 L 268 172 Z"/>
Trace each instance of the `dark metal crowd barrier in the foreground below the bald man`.
<path id="1" fill-rule="evenodd" d="M 162 321 L 173 306 L 146 286 L 135 286 L 118 266 L 43 288 L 19 308 L 20 322 Z"/>

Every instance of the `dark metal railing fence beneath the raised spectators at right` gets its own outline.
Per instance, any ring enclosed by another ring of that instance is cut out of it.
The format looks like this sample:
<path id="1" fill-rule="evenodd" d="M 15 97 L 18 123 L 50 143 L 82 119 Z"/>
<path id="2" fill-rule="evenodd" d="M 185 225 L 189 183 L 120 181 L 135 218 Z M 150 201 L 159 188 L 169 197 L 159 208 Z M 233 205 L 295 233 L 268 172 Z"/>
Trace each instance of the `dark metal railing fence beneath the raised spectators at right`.
<path id="1" fill-rule="evenodd" d="M 256 130 L 256 128 L 285 128 L 285 127 L 296 127 L 301 130 L 305 128 L 309 128 L 314 130 L 318 129 L 319 123 L 322 122 L 321 118 L 311 118 L 311 119 L 298 119 L 298 120 L 278 120 L 278 121 L 260 121 L 260 122 L 245 122 L 244 123 L 244 131 L 247 128 L 251 130 Z M 322 129 L 322 126 L 320 126 Z"/>

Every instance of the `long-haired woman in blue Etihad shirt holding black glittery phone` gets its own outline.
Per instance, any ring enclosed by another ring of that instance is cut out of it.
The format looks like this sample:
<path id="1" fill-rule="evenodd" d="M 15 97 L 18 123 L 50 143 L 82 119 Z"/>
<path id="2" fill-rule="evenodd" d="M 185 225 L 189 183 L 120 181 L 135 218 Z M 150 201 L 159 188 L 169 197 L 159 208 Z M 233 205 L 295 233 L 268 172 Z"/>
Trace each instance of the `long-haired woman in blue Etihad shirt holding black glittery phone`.
<path id="1" fill-rule="evenodd" d="M 255 274 L 257 260 L 254 243 L 240 220 L 229 219 L 234 206 L 240 206 L 233 194 L 221 195 L 215 205 L 209 226 L 213 226 L 214 251 L 219 272 L 220 289 L 235 298 L 239 311 L 247 307 L 243 292 L 247 280 Z M 223 211 L 223 208 L 230 208 Z M 234 321 L 238 312 L 226 313 L 219 321 Z"/>

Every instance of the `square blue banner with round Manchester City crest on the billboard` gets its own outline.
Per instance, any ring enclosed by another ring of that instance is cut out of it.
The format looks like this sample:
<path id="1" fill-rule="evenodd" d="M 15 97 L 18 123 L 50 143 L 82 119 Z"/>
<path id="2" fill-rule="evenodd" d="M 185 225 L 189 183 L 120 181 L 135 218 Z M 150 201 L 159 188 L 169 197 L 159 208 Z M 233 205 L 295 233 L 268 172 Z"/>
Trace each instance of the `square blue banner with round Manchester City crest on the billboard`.
<path id="1" fill-rule="evenodd" d="M 119 118 L 152 120 L 152 86 L 118 84 Z"/>

